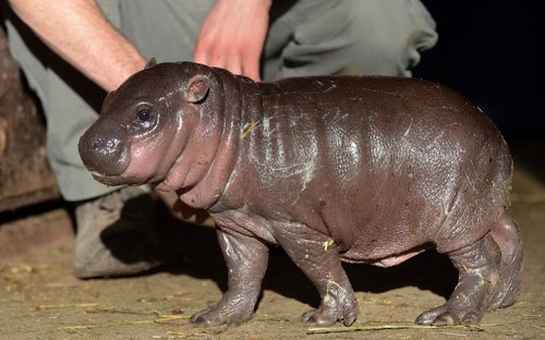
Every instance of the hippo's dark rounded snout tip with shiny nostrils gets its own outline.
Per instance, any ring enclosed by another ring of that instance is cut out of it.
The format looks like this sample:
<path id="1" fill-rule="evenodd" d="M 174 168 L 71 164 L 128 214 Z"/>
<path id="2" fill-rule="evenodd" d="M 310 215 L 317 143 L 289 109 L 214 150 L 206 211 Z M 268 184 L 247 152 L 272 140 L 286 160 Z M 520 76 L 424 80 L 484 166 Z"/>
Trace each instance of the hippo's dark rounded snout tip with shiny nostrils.
<path id="1" fill-rule="evenodd" d="M 126 146 L 118 137 L 106 137 L 87 131 L 77 145 L 80 157 L 93 175 L 105 184 L 112 184 L 110 177 L 119 177 L 129 165 Z"/>

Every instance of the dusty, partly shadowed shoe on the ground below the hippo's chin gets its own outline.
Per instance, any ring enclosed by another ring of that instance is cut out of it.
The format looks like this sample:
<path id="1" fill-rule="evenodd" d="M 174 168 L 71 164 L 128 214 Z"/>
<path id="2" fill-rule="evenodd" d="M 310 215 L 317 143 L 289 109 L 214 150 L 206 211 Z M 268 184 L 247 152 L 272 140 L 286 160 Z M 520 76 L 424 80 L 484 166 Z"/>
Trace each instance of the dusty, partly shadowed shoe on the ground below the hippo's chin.
<path id="1" fill-rule="evenodd" d="M 149 186 L 128 186 L 75 208 L 75 276 L 140 274 L 161 264 Z"/>

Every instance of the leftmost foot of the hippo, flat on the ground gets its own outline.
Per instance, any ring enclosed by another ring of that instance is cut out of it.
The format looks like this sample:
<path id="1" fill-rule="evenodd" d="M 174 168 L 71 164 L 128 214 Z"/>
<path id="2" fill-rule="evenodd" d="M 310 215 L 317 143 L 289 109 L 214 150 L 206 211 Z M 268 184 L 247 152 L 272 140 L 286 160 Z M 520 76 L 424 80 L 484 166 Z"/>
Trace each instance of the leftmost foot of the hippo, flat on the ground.
<path id="1" fill-rule="evenodd" d="M 214 327 L 227 325 L 228 327 L 237 327 L 249 321 L 254 315 L 253 308 L 237 307 L 237 311 L 218 304 L 215 307 L 206 308 L 194 314 L 191 317 L 191 323 L 198 327 Z"/>

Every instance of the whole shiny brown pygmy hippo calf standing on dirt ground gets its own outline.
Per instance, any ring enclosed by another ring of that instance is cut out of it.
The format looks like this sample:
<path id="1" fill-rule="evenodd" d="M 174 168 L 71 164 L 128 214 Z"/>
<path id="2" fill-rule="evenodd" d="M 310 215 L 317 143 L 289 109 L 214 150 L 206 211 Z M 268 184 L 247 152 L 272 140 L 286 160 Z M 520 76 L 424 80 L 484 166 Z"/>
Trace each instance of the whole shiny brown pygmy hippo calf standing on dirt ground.
<path id="1" fill-rule="evenodd" d="M 191 62 L 148 65 L 108 95 L 78 147 L 96 180 L 175 191 L 215 219 L 229 289 L 195 324 L 252 317 L 270 244 L 319 292 L 308 324 L 355 320 L 342 260 L 388 267 L 431 247 L 448 255 L 459 281 L 416 323 L 477 323 L 519 295 L 508 147 L 480 109 L 436 84 L 255 83 Z"/>

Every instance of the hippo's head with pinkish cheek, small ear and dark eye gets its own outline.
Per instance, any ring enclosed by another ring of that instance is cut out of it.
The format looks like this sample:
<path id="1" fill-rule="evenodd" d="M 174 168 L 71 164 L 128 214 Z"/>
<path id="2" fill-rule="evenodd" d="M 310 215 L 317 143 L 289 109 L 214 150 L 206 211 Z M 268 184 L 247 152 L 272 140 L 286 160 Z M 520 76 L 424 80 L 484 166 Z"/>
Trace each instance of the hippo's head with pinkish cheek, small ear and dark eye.
<path id="1" fill-rule="evenodd" d="M 154 61 L 111 92 L 78 144 L 93 177 L 107 185 L 152 183 L 169 190 L 169 173 L 187 154 L 184 148 L 199 124 L 210 70 Z M 178 171 L 178 180 L 183 182 L 189 171 Z"/>

